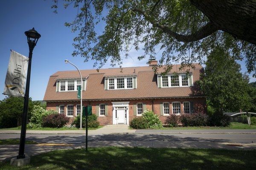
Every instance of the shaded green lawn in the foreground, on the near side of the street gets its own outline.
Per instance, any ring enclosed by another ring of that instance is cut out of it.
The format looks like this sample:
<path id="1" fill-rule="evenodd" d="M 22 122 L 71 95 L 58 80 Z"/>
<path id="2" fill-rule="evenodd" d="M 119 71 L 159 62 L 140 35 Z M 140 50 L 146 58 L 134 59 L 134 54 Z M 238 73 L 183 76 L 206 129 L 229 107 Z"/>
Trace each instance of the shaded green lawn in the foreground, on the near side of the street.
<path id="1" fill-rule="evenodd" d="M 31 164 L 1 170 L 255 170 L 256 150 L 96 147 L 32 156 Z"/>

